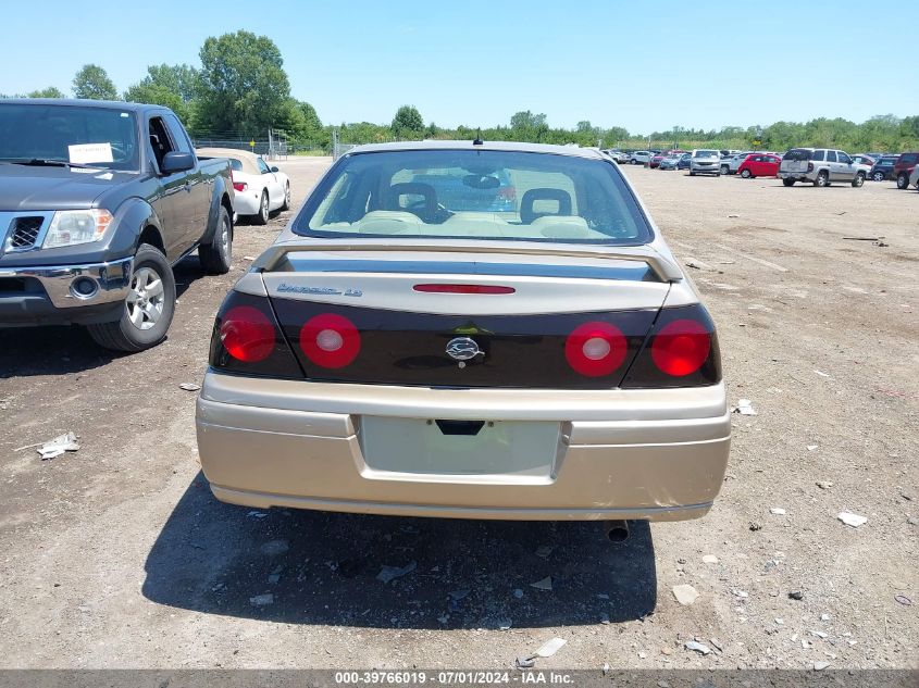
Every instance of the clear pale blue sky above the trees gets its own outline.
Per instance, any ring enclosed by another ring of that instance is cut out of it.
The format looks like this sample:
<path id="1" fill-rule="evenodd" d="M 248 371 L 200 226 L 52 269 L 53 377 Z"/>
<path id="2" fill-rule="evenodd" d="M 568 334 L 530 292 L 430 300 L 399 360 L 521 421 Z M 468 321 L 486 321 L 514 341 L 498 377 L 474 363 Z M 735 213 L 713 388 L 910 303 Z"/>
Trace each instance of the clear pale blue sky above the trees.
<path id="1" fill-rule="evenodd" d="M 245 28 L 277 43 L 325 123 L 389 122 L 406 103 L 440 126 L 519 110 L 633 134 L 860 122 L 919 114 L 919 43 L 902 38 L 917 26 L 916 2 L 847 0 L 4 2 L 0 92 L 69 91 L 87 62 L 124 90 Z"/>

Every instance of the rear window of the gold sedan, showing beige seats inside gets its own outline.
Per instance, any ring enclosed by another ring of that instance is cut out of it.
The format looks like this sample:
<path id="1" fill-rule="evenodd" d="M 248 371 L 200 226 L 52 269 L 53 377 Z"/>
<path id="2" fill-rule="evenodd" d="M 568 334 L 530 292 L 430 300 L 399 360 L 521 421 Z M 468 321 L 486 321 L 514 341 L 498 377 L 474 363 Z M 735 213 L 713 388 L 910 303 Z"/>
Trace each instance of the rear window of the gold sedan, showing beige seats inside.
<path id="1" fill-rule="evenodd" d="M 310 195 L 293 230 L 318 237 L 651 240 L 644 215 L 610 162 L 492 150 L 346 157 Z"/>

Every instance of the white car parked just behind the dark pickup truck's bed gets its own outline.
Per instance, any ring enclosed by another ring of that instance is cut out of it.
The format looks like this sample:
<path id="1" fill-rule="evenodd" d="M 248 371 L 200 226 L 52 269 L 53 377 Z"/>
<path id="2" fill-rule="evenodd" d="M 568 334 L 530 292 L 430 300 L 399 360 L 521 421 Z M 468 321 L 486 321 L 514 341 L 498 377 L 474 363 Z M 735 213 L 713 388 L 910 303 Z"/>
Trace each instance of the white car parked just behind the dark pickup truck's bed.
<path id="1" fill-rule="evenodd" d="M 290 208 L 290 180 L 277 167 L 269 167 L 261 155 L 235 148 L 199 148 L 198 154 L 229 159 L 237 215 L 263 225 L 272 212 Z"/>

